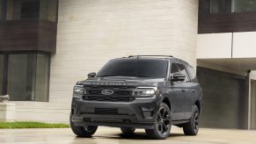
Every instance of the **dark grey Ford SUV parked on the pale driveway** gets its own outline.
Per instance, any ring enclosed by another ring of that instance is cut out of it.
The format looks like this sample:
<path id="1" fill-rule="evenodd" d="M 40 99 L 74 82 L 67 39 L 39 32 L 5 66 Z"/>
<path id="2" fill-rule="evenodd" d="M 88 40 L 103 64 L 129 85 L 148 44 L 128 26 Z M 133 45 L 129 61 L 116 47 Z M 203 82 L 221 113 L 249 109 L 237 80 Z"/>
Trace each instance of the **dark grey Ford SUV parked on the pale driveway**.
<path id="1" fill-rule="evenodd" d="M 90 137 L 98 126 L 121 127 L 123 134 L 144 128 L 151 138 L 165 139 L 174 125 L 196 135 L 201 97 L 186 61 L 169 55 L 113 59 L 75 85 L 70 126 L 80 137 Z"/>

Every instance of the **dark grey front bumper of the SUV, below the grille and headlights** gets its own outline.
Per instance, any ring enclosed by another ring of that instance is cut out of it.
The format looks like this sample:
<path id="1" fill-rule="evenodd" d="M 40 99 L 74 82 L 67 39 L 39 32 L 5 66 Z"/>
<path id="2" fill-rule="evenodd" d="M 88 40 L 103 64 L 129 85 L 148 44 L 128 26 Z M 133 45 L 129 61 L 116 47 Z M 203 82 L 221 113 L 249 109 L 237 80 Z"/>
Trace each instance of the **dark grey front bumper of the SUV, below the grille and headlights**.
<path id="1" fill-rule="evenodd" d="M 73 97 L 70 120 L 75 126 L 154 128 L 157 97 L 132 102 L 85 101 Z"/>

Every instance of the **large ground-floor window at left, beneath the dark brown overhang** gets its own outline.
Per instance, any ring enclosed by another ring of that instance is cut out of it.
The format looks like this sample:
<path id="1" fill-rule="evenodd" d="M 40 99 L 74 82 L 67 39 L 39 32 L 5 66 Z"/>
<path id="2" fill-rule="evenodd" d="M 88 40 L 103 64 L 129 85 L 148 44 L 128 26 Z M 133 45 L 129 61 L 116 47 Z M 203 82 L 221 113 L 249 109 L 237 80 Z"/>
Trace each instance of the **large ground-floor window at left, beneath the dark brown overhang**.
<path id="1" fill-rule="evenodd" d="M 12 101 L 48 102 L 50 56 L 48 54 L 7 55 L 8 61 L 3 59 L 3 65 L 6 62 L 8 68 L 1 68 L 2 73 L 4 70 L 7 71 L 8 83 L 6 83 L 7 93 L 5 94 L 10 95 Z M 3 79 L 4 77 L 0 82 L 3 82 Z M 2 89 L 2 94 L 4 94 L 3 91 Z"/>

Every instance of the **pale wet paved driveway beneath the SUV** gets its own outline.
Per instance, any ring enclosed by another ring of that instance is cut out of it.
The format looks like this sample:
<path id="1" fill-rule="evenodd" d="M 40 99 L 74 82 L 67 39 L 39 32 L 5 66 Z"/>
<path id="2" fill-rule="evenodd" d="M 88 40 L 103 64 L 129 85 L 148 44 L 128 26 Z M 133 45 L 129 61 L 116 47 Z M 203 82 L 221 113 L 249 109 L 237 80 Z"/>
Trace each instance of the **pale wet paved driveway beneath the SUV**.
<path id="1" fill-rule="evenodd" d="M 172 127 L 167 140 L 147 140 L 143 130 L 136 130 L 134 138 L 121 137 L 119 128 L 99 127 L 92 138 L 77 138 L 69 128 L 65 129 L 11 129 L 0 130 L 0 143 L 15 144 L 256 144 L 256 131 L 201 129 L 198 136 L 185 136 L 182 130 Z"/>

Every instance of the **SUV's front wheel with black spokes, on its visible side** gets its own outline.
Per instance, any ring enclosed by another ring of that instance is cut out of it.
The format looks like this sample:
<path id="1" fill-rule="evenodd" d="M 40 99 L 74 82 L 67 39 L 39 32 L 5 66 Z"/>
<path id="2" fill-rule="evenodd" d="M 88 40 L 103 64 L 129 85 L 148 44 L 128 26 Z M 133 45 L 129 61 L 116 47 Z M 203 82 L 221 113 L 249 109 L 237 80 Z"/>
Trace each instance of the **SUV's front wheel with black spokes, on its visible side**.
<path id="1" fill-rule="evenodd" d="M 172 120 L 171 111 L 167 104 L 160 104 L 159 110 L 157 111 L 157 123 L 154 129 L 145 129 L 147 135 L 156 140 L 166 139 L 171 131 Z"/>

